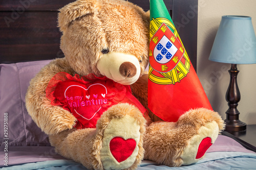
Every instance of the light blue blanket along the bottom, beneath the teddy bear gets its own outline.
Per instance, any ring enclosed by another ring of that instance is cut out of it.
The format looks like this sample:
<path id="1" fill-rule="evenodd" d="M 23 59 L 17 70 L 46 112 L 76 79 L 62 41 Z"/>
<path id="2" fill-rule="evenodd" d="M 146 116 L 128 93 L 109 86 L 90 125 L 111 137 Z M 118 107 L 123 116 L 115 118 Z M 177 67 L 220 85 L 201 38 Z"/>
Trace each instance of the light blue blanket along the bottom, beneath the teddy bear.
<path id="1" fill-rule="evenodd" d="M 52 160 L 20 165 L 6 166 L 2 169 L 46 169 L 46 170 L 84 170 L 81 164 L 70 160 Z M 168 167 L 156 164 L 152 161 L 143 160 L 138 169 L 256 169 L 256 154 L 243 152 L 210 152 L 197 163 L 181 167 Z"/>

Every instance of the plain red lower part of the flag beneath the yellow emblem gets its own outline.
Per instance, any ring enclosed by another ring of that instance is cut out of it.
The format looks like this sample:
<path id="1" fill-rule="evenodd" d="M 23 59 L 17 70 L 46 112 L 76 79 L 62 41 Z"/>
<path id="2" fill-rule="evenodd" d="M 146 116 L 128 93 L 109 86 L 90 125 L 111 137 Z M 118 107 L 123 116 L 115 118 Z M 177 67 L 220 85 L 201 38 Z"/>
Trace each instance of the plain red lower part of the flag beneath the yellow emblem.
<path id="1" fill-rule="evenodd" d="M 179 83 L 162 85 L 148 80 L 148 108 L 166 122 L 177 122 L 190 109 L 212 110 L 195 69 Z"/>

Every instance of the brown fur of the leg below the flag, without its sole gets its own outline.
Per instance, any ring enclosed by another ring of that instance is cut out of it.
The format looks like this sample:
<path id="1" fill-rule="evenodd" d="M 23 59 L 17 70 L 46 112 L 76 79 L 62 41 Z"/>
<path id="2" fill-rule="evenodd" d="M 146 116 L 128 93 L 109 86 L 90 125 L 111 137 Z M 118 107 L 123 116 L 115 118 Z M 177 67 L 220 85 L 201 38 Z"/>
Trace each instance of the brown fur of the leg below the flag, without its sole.
<path id="1" fill-rule="evenodd" d="M 199 129 L 213 121 L 218 124 L 220 131 L 223 130 L 224 124 L 219 114 L 204 108 L 186 112 L 176 123 L 152 123 L 146 128 L 144 137 L 145 159 L 168 166 L 181 166 L 181 155 L 189 140 L 194 135 L 200 135 Z"/>

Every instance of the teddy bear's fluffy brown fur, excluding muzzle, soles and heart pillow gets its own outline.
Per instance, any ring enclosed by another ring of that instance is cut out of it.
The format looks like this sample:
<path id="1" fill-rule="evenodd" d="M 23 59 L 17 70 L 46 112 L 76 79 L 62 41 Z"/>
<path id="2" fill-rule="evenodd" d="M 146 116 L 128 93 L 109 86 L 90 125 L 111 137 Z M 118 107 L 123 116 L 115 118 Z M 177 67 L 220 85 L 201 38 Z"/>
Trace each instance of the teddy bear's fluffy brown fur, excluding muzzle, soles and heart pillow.
<path id="1" fill-rule="evenodd" d="M 122 118 L 132 117 L 136 121 L 132 123 L 126 118 L 125 124 L 139 127 L 138 132 L 129 131 L 131 134 L 139 134 L 136 143 L 138 153 L 133 163 L 116 162 L 114 169 L 135 169 L 143 157 L 169 166 L 181 166 L 197 161 L 194 158 L 191 160 L 187 157 L 190 154 L 185 152 L 189 147 L 198 147 L 200 141 L 197 141 L 197 136 L 214 136 L 216 129 L 217 133 L 223 129 L 223 120 L 218 113 L 206 109 L 190 110 L 176 123 L 156 122 L 161 119 L 149 111 L 150 117 L 146 117 L 145 126 L 145 117 L 136 107 L 117 104 L 102 114 L 95 129 L 77 130 L 73 128 L 76 118 L 72 113 L 52 106 L 46 98 L 46 87 L 58 72 L 67 72 L 72 76 L 93 73 L 101 77 L 99 67 L 102 65 L 99 66 L 98 62 L 105 57 L 101 52 L 105 50 L 109 52 L 109 56 L 114 53 L 115 56 L 122 54 L 122 60 L 129 61 L 131 55 L 135 57 L 140 72 L 139 79 L 131 85 L 131 89 L 134 96 L 148 109 L 147 75 L 144 74 L 144 69 L 148 64 L 149 20 L 149 13 L 122 0 L 78 0 L 60 9 L 58 27 L 63 34 L 60 47 L 65 58 L 53 60 L 42 68 L 31 80 L 26 94 L 29 114 L 37 126 L 49 135 L 51 144 L 59 154 L 80 162 L 89 169 L 104 169 L 106 164 L 102 163 L 100 153 L 103 140 L 108 137 L 106 129 Z M 112 69 L 111 63 L 106 65 L 108 68 L 101 69 Z M 125 74 L 117 74 L 118 80 L 122 78 L 121 75 Z M 127 79 L 125 83 L 131 82 L 127 77 L 124 79 Z M 210 128 L 205 130 L 204 126 L 214 122 L 216 124 L 210 124 Z M 119 129 L 114 129 L 112 133 L 118 132 Z M 191 146 L 190 143 L 196 145 Z M 188 162 L 184 161 L 188 159 Z"/>

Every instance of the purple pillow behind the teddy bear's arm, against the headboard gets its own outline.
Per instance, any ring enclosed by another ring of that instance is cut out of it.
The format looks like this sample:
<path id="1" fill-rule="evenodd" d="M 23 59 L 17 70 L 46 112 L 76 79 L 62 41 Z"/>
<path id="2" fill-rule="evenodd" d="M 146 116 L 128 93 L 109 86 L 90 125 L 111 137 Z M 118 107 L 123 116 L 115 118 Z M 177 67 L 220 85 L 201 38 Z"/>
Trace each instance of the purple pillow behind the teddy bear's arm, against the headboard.
<path id="1" fill-rule="evenodd" d="M 30 80 L 50 61 L 0 64 L 1 146 L 5 140 L 10 146 L 50 145 L 48 136 L 36 126 L 25 106 Z"/>

